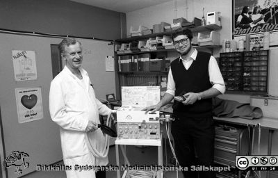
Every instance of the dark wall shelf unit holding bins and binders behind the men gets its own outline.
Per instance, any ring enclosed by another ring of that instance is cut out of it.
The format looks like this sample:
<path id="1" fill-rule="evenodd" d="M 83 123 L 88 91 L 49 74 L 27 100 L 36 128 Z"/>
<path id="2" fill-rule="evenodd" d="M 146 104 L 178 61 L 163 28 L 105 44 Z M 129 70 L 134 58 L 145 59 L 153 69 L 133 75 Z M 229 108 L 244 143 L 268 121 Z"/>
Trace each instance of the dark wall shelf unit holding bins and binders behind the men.
<path id="1" fill-rule="evenodd" d="M 222 29 L 222 26 L 218 26 L 216 24 L 209 24 L 206 26 L 197 26 L 195 28 L 190 28 L 193 33 L 195 32 L 201 32 L 201 31 L 212 31 L 212 30 L 219 30 Z M 145 40 L 149 38 L 154 38 L 156 36 L 163 36 L 163 35 L 171 35 L 172 31 L 166 31 L 162 33 L 152 33 L 149 35 L 139 35 L 134 36 L 131 38 L 122 38 L 115 40 L 115 44 L 122 44 L 122 43 L 128 43 L 138 40 Z M 213 51 L 215 48 L 221 48 L 221 45 L 211 45 L 211 46 L 193 46 L 196 49 L 210 49 Z M 135 51 L 135 52 L 128 52 L 128 53 L 122 53 L 117 54 L 115 52 L 115 81 L 116 81 L 116 96 L 117 99 L 121 99 L 121 93 L 120 88 L 122 86 L 149 86 L 149 85 L 160 85 L 161 82 L 165 81 L 165 78 L 167 79 L 167 70 L 161 70 L 161 72 L 153 72 L 153 71 L 147 71 L 147 72 L 138 72 L 138 71 L 131 71 L 131 72 L 120 72 L 119 71 L 119 57 L 123 58 L 124 56 L 132 56 L 132 55 L 142 55 L 142 54 L 159 54 L 159 53 L 169 53 L 169 52 L 176 52 L 175 49 L 158 49 L 158 50 L 150 50 L 150 51 Z M 164 60 L 163 60 L 164 61 Z M 165 66 L 167 67 L 167 66 Z M 165 90 L 166 88 L 162 89 Z"/>

